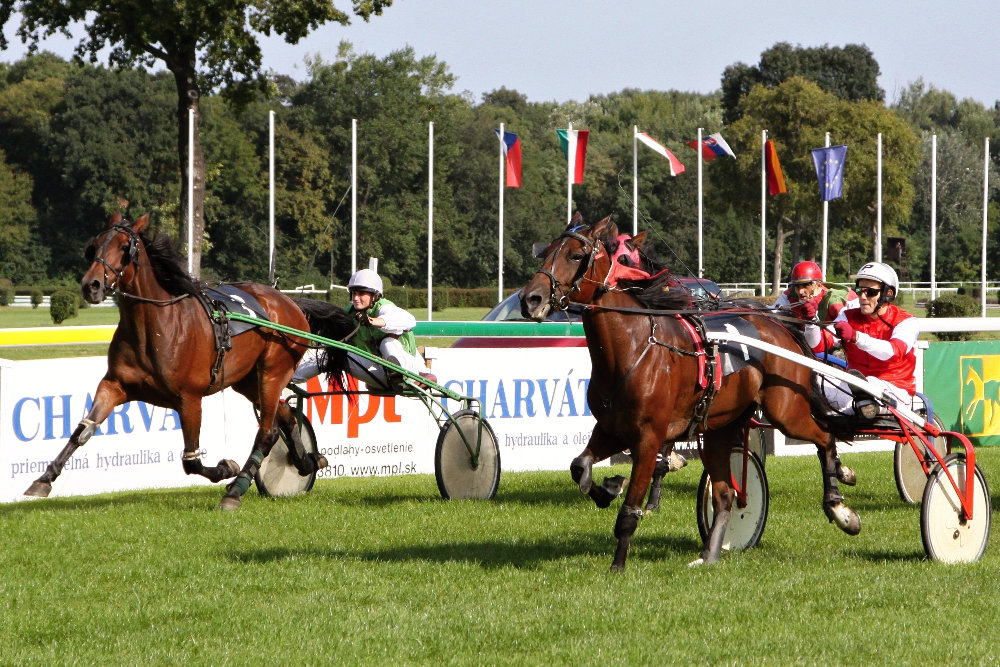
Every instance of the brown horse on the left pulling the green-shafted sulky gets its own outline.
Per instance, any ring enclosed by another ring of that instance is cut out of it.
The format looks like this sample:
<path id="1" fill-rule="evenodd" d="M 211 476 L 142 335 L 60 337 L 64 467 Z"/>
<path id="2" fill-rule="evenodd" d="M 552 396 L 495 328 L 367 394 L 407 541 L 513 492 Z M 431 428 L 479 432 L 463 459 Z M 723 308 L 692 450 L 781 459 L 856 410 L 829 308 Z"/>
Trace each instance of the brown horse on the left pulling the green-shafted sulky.
<path id="1" fill-rule="evenodd" d="M 297 434 L 295 415 L 280 398 L 308 341 L 260 327 L 226 336 L 210 320 L 213 305 L 204 296 L 207 285 L 184 271 L 166 237 L 150 240 L 143 234 L 148 217 L 130 223 L 115 214 L 109 228 L 86 248 L 91 265 L 80 283 L 84 298 L 100 303 L 107 293 L 118 293 L 120 319 L 108 348 L 108 371 L 97 386 L 90 412 L 25 495 L 48 496 L 70 456 L 111 411 L 139 400 L 178 412 L 184 472 L 212 482 L 235 476 L 220 507 L 237 509 L 240 496 L 277 440 L 278 429 L 293 440 Z M 254 283 L 238 287 L 260 304 L 270 321 L 310 330 L 303 310 L 278 290 Z M 345 334 L 353 330 L 346 314 L 339 329 Z M 211 467 L 201 461 L 201 399 L 226 387 L 249 399 L 259 414 L 260 427 L 242 470 L 229 459 Z M 298 449 L 289 447 L 289 458 L 303 476 L 327 465 L 322 456 Z"/>

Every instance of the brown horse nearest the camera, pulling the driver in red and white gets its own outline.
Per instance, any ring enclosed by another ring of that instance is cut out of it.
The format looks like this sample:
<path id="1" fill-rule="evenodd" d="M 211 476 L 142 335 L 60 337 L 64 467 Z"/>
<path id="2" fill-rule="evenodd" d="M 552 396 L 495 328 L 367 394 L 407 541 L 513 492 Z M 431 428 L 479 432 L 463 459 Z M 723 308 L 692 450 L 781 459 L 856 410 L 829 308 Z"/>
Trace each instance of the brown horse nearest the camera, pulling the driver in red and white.
<path id="1" fill-rule="evenodd" d="M 708 539 L 695 563 L 719 559 L 735 495 L 730 486 L 730 450 L 742 442 L 743 427 L 757 406 L 785 435 L 815 443 L 827 517 L 848 534 L 860 532 L 860 518 L 844 503 L 838 486 L 838 479 L 853 484 L 854 474 L 840 465 L 834 437 L 810 416 L 810 369 L 762 353 L 761 358 L 726 375 L 714 399 L 705 405 L 701 401 L 705 392 L 696 382 L 698 357 L 703 352 L 697 349 L 695 337 L 679 313 L 657 314 L 645 305 L 684 310 L 690 307 L 688 295 L 656 282 L 644 291 L 658 296 L 644 303 L 632 290 L 611 286 L 607 281 L 612 269 L 610 251 L 617 235 L 610 217 L 590 227 L 567 229 L 546 249 L 542 268 L 520 292 L 523 314 L 535 320 L 571 302 L 587 304 L 583 327 L 592 364 L 587 400 L 597 424 L 571 471 L 580 490 L 597 501 L 607 491 L 592 484 L 593 464 L 624 449 L 631 450 L 633 458 L 625 500 L 615 522 L 618 548 L 611 569 L 625 568 L 661 444 L 685 437 L 692 426 L 703 433 L 701 458 L 712 479 L 715 510 Z M 752 325 L 760 340 L 804 352 L 796 335 L 767 311 L 744 308 L 733 315 Z M 707 410 L 702 419 L 695 417 L 699 403 Z"/>

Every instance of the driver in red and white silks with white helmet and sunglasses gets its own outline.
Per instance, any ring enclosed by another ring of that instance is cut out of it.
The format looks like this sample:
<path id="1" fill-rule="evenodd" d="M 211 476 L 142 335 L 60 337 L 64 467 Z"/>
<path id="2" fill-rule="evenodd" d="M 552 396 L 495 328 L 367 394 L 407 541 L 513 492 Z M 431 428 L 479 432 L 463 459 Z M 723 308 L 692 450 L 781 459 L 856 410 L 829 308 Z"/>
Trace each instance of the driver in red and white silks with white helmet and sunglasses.
<path id="1" fill-rule="evenodd" d="M 859 307 L 842 310 L 833 321 L 847 354 L 847 366 L 909 407 L 917 390 L 917 318 L 893 303 L 899 279 L 891 266 L 869 262 L 855 279 Z M 806 325 L 805 336 L 813 351 L 823 350 L 819 327 Z M 824 378 L 823 387 L 835 409 L 843 414 L 853 412 L 853 397 L 846 383 Z"/>

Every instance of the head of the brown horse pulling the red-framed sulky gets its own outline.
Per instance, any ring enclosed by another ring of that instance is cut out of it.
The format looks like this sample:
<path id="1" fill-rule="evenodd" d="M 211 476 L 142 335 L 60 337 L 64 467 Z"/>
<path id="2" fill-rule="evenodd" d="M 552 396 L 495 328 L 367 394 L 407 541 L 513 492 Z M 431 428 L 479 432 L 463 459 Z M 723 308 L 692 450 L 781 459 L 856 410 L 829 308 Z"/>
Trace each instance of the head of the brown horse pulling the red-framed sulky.
<path id="1" fill-rule="evenodd" d="M 593 225 L 581 224 L 579 214 L 543 252 L 542 268 L 521 288 L 521 314 L 537 322 L 571 301 L 594 298 L 611 267 L 606 243 L 618 236 L 608 216 Z"/>

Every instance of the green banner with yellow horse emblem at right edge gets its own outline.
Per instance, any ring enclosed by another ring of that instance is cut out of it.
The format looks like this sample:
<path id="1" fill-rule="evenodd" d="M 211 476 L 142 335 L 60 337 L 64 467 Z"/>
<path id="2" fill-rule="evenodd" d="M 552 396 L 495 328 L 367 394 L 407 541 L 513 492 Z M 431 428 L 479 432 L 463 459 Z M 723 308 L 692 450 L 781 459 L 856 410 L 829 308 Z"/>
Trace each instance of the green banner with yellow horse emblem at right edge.
<path id="1" fill-rule="evenodd" d="M 1000 445 L 1000 341 L 931 343 L 924 393 L 945 428 L 977 446 Z"/>

